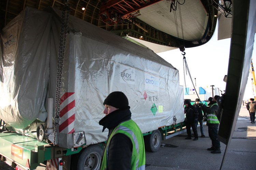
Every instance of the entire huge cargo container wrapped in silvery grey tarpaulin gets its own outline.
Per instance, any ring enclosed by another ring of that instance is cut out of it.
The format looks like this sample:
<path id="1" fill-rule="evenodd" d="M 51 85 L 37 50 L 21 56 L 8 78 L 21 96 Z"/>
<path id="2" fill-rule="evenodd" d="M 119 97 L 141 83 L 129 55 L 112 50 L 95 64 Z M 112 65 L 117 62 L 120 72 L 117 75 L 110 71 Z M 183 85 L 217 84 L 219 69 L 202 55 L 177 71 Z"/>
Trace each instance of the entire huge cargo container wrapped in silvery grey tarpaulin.
<path id="1" fill-rule="evenodd" d="M 55 98 L 60 11 L 27 7 L 1 32 L 0 118 L 18 133 L 33 136 L 46 121 L 46 100 Z M 112 91 L 126 94 L 142 133 L 184 121 L 179 72 L 152 50 L 73 16 L 61 79 L 60 147 L 73 135 L 86 145 L 106 140 L 99 120 Z"/>

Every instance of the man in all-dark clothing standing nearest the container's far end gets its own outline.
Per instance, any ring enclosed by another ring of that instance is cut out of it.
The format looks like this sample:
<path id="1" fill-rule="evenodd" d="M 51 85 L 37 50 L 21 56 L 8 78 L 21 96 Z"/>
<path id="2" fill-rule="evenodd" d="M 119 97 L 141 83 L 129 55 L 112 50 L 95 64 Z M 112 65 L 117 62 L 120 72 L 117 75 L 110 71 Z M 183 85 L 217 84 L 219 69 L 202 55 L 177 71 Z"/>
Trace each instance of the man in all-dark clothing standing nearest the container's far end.
<path id="1" fill-rule="evenodd" d="M 197 126 L 196 126 L 196 122 L 198 122 L 197 109 L 196 107 L 190 104 L 189 100 L 185 100 L 184 104 L 186 105 L 184 108 L 184 113 L 186 114 L 185 123 L 186 123 L 186 130 L 187 130 L 187 137 L 185 139 L 191 139 L 190 128 L 192 128 L 195 136 L 193 140 L 198 140 Z"/>

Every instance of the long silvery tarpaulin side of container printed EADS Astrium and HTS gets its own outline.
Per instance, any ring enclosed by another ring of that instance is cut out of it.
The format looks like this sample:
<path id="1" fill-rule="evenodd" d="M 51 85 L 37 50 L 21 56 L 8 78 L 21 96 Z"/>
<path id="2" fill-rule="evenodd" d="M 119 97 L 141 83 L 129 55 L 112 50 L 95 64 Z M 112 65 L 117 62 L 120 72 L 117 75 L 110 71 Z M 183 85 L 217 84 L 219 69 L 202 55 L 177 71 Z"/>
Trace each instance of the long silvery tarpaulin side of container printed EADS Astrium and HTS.
<path id="1" fill-rule="evenodd" d="M 60 11 L 52 10 L 58 16 L 53 19 L 57 28 Z M 54 31 L 58 35 L 59 29 Z M 60 108 L 66 113 L 60 120 L 60 146 L 72 146 L 67 137 L 72 132 L 84 131 L 87 145 L 106 140 L 108 131 L 102 133 L 98 122 L 104 117 L 103 101 L 113 91 L 126 94 L 142 133 L 173 124 L 174 116 L 177 123 L 184 121 L 179 72 L 152 50 L 73 16 L 67 39 L 61 94 L 70 99 Z"/>

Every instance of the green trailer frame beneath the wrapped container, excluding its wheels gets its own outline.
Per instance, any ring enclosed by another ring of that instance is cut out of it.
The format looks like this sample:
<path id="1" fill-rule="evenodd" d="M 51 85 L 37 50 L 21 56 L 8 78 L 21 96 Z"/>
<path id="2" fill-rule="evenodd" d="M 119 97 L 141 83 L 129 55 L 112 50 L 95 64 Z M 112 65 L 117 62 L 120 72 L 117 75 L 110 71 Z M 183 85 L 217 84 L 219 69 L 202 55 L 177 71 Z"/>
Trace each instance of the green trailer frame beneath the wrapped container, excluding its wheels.
<path id="1" fill-rule="evenodd" d="M 179 135 L 186 131 L 183 130 L 184 122 L 159 127 L 161 140 Z M 153 131 L 143 133 L 143 136 L 151 135 Z M 101 147 L 103 143 L 98 143 Z M 14 132 L 0 133 L 0 158 L 13 168 L 16 166 L 23 169 L 36 169 L 40 163 L 46 164 L 46 161 L 53 158 L 70 156 L 80 153 L 85 146 L 77 148 L 61 148 L 51 146 L 45 141 L 38 141 L 35 138 Z"/>

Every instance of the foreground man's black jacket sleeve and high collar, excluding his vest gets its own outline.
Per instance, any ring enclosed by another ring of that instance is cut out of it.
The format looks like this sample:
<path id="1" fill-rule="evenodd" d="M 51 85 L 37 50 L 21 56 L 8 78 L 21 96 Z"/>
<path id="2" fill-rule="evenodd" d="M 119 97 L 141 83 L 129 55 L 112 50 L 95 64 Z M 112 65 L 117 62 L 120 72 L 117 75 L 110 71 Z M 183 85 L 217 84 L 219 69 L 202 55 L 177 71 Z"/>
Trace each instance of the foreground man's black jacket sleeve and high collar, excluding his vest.
<path id="1" fill-rule="evenodd" d="M 124 109 L 117 109 L 102 118 L 99 121 L 99 124 L 103 126 L 102 132 L 106 128 L 109 129 L 107 141 L 109 140 L 110 134 L 118 124 L 130 119 L 131 112 L 129 106 Z M 132 142 L 126 135 L 120 133 L 115 134 L 109 143 L 108 152 L 108 169 L 131 169 Z"/>

